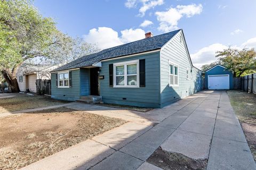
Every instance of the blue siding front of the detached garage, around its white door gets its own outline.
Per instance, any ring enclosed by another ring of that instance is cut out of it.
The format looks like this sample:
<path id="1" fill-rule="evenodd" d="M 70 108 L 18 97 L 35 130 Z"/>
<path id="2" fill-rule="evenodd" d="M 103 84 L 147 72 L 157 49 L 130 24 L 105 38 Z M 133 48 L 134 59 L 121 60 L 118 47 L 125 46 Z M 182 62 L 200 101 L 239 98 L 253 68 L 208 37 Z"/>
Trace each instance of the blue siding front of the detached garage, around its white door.
<path id="1" fill-rule="evenodd" d="M 208 75 L 221 75 L 221 74 L 229 74 L 229 89 L 233 89 L 233 77 L 234 77 L 233 73 L 219 65 L 214 67 L 212 70 L 205 72 L 205 89 L 208 89 Z"/>

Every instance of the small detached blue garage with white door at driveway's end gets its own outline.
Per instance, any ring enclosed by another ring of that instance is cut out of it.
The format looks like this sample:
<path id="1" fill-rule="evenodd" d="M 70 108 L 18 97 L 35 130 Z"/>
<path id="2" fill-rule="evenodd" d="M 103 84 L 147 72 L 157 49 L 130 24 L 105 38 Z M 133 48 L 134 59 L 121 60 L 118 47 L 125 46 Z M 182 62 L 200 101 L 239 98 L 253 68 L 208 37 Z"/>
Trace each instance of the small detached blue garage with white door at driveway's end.
<path id="1" fill-rule="evenodd" d="M 217 64 L 205 71 L 205 89 L 233 89 L 233 73 L 223 65 Z"/>

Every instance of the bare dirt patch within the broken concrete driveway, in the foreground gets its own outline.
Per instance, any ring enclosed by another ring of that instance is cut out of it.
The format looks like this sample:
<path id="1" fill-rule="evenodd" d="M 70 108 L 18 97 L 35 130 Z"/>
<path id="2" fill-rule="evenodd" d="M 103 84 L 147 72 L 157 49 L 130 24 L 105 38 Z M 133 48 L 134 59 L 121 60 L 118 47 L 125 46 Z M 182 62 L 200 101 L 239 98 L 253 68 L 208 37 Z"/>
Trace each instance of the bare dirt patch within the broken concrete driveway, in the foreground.
<path id="1" fill-rule="evenodd" d="M 191 159 L 185 155 L 167 152 L 159 147 L 147 160 L 148 163 L 166 170 L 201 170 L 206 169 L 206 159 Z"/>

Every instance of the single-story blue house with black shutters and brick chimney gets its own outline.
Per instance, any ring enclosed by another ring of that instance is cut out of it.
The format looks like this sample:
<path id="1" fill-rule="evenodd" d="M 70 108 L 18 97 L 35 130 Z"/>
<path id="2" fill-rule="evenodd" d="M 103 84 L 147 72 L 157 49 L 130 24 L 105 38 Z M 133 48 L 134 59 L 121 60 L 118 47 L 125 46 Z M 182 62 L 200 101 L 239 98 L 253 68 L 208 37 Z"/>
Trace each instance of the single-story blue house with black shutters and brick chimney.
<path id="1" fill-rule="evenodd" d="M 111 104 L 164 107 L 202 90 L 182 30 L 104 49 L 51 71 L 52 98 L 101 96 Z"/>

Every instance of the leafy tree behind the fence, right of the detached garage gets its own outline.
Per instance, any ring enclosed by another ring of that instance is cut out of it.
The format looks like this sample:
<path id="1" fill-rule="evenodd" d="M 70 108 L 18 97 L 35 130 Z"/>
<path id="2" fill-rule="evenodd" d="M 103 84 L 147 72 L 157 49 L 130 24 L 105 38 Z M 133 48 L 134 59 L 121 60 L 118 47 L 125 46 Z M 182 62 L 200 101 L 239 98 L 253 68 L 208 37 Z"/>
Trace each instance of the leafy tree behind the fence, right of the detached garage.
<path id="1" fill-rule="evenodd" d="M 217 52 L 218 62 L 233 71 L 236 77 L 244 73 L 250 74 L 256 71 L 256 51 L 254 48 L 242 50 L 227 48 Z"/>

